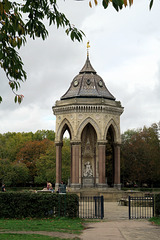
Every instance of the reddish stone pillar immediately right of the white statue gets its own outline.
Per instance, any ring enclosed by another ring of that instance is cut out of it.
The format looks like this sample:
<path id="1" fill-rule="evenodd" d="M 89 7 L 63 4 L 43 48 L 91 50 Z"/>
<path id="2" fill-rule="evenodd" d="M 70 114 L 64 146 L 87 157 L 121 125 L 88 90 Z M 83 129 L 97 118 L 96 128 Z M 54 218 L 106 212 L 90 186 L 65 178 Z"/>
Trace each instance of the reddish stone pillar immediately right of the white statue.
<path id="1" fill-rule="evenodd" d="M 98 142 L 99 188 L 106 188 L 106 142 Z"/>

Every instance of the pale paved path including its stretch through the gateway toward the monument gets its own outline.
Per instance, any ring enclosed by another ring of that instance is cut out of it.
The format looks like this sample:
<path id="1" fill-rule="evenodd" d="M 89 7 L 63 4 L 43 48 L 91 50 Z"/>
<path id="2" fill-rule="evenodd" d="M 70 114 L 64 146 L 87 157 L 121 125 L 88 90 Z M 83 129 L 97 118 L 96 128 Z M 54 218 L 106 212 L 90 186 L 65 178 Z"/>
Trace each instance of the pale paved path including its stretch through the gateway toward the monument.
<path id="1" fill-rule="evenodd" d="M 128 220 L 128 207 L 105 203 L 105 219 L 87 224 L 82 240 L 160 240 L 160 227 L 148 220 Z"/>

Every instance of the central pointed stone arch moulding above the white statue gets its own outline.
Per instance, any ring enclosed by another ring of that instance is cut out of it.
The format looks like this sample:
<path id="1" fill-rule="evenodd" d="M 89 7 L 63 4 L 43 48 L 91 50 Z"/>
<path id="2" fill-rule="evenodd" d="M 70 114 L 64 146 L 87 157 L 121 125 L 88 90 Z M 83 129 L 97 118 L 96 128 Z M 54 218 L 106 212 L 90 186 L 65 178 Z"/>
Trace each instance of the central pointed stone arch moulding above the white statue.
<path id="1" fill-rule="evenodd" d="M 85 128 L 85 126 L 87 124 L 91 124 L 92 127 L 94 128 L 96 134 L 97 134 L 97 139 L 101 139 L 101 130 L 98 126 L 98 124 L 90 117 L 86 118 L 79 126 L 78 130 L 77 130 L 77 139 L 80 140 L 81 139 L 81 134 L 83 129 Z"/>

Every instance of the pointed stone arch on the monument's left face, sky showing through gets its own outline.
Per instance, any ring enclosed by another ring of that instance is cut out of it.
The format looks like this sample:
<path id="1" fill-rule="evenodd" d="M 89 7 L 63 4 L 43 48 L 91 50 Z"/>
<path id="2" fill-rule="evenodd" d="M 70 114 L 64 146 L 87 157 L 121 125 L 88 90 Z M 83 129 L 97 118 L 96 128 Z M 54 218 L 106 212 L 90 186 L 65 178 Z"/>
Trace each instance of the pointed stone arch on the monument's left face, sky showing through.
<path id="1" fill-rule="evenodd" d="M 58 130 L 57 130 L 57 141 L 62 141 L 64 132 L 68 130 L 70 135 L 70 140 L 73 138 L 73 128 L 68 119 L 63 119 Z"/>

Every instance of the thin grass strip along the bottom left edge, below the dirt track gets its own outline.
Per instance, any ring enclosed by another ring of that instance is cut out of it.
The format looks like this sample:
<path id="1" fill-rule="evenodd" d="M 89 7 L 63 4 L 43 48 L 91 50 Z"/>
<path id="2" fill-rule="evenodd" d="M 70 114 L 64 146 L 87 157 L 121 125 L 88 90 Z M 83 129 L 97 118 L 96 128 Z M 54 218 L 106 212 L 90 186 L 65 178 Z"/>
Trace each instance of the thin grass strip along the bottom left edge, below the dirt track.
<path id="1" fill-rule="evenodd" d="M 24 235 L 24 234 L 11 234 L 11 233 L 0 234 L 0 239 L 1 240 L 70 240 L 69 238 L 64 239 L 64 238 L 58 238 L 58 237 L 42 236 L 38 234 Z"/>

